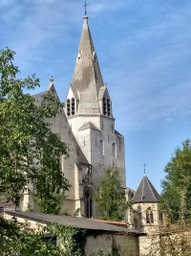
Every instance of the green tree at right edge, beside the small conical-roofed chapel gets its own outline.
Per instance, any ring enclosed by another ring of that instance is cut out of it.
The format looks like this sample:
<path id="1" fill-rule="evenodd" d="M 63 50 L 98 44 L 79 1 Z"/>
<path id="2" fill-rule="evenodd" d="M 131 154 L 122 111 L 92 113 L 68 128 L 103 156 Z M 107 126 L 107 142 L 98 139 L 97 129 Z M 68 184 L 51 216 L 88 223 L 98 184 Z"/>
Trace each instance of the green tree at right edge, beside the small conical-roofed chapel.
<path id="1" fill-rule="evenodd" d="M 189 221 L 191 213 L 191 142 L 189 139 L 182 142 L 171 160 L 167 163 L 164 172 L 165 178 L 161 181 L 162 193 L 160 208 L 168 214 L 171 221 L 180 218 L 180 191 L 184 189 L 185 205 L 184 218 Z"/>

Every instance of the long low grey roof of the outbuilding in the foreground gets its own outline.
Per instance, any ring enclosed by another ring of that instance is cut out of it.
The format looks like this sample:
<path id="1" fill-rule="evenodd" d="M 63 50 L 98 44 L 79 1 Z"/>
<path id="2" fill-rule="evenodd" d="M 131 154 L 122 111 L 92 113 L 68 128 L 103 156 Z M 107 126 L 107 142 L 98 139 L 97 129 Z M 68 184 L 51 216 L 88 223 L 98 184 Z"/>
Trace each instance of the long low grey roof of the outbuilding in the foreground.
<path id="1" fill-rule="evenodd" d="M 17 217 L 23 218 L 30 221 L 37 221 L 43 223 L 52 223 L 57 222 L 60 225 L 68 226 L 76 226 L 78 228 L 85 228 L 91 230 L 103 230 L 110 232 L 120 232 L 120 233 L 131 233 L 134 235 L 144 235 L 144 233 L 139 232 L 138 230 L 128 229 L 125 227 L 102 223 L 98 221 L 94 221 L 86 218 L 79 217 L 70 217 L 70 216 L 60 216 L 60 215 L 49 215 L 49 214 L 38 214 L 38 213 L 30 213 L 30 212 L 17 212 L 17 211 L 5 211 L 7 214 Z"/>

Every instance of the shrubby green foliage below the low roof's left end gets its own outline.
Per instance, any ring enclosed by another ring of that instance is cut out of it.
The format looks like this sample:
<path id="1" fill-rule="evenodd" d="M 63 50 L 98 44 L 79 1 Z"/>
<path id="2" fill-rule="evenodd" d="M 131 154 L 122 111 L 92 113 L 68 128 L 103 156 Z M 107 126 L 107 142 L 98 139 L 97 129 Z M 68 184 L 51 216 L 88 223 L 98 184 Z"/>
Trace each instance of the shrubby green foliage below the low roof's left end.
<path id="1" fill-rule="evenodd" d="M 52 234 L 47 238 L 46 234 Z M 51 223 L 32 228 L 29 221 L 0 219 L 0 256 L 84 256 L 87 230 Z M 58 244 L 53 244 L 53 237 Z"/>

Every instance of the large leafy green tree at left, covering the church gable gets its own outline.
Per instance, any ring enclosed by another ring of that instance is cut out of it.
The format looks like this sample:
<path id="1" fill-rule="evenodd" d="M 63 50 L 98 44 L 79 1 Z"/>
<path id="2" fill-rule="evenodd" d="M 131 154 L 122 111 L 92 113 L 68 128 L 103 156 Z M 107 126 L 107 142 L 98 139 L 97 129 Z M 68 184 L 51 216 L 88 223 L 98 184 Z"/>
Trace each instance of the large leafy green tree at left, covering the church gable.
<path id="1" fill-rule="evenodd" d="M 50 93 L 37 106 L 24 90 L 39 86 L 39 79 L 18 79 L 14 52 L 0 51 L 0 195 L 18 204 L 32 183 L 42 212 L 58 213 L 70 184 L 60 169 L 60 156 L 69 148 L 51 130 L 49 119 L 63 104 Z M 59 189 L 62 195 L 56 196 Z M 46 207 L 43 207 L 46 205 Z"/>

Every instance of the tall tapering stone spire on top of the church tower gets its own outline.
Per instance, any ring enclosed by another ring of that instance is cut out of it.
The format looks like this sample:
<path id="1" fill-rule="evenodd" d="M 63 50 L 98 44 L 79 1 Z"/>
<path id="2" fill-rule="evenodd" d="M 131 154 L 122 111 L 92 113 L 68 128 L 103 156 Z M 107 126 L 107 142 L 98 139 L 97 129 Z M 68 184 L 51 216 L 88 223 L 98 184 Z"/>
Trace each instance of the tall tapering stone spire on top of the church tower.
<path id="1" fill-rule="evenodd" d="M 92 35 L 88 25 L 88 16 L 84 16 L 84 25 L 77 53 L 72 88 L 79 98 L 78 113 L 100 113 L 98 94 L 104 86 Z"/>

